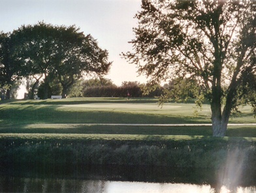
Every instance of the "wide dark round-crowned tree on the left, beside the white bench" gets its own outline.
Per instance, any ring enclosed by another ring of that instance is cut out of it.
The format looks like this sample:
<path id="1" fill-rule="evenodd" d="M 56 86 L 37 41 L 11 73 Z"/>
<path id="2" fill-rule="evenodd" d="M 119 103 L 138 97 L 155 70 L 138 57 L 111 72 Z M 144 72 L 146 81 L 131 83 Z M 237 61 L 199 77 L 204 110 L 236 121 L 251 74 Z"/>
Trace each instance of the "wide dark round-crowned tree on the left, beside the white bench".
<path id="1" fill-rule="evenodd" d="M 23 25 L 13 31 L 11 38 L 16 48 L 14 57 L 22 63 L 24 74 L 44 77 L 44 98 L 48 98 L 49 83 L 56 78 L 64 97 L 83 73 L 106 74 L 111 65 L 108 52 L 99 48 L 97 40 L 74 25 Z"/>

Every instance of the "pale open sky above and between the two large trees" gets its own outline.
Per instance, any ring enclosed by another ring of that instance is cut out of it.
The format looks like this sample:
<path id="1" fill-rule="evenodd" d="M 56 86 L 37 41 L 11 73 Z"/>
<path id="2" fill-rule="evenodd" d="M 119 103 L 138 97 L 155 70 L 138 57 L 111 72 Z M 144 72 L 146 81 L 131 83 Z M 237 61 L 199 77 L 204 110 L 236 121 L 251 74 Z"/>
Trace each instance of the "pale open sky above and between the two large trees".
<path id="1" fill-rule="evenodd" d="M 121 59 L 131 51 L 136 12 L 141 0 L 0 0 L 0 31 L 5 33 L 21 25 L 44 21 L 52 25 L 76 25 L 85 35 L 91 34 L 99 46 L 108 50 L 113 61 L 110 78 L 116 85 L 124 81 L 146 82 L 136 73 L 136 66 Z"/>

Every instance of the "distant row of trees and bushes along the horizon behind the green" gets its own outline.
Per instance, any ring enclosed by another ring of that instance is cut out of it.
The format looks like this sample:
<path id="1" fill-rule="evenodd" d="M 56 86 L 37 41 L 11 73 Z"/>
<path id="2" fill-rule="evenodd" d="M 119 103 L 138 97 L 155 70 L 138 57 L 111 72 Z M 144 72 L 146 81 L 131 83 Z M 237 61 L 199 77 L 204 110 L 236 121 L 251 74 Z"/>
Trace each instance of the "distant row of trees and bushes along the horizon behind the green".
<path id="1" fill-rule="evenodd" d="M 27 91 L 31 95 L 31 86 L 33 83 L 27 81 Z M 44 95 L 41 84 L 35 89 L 37 96 L 42 98 Z M 185 79 L 184 84 L 178 83 L 178 80 L 172 80 L 161 86 L 156 84 L 153 89 L 147 83 L 139 82 L 122 82 L 117 86 L 112 80 L 107 78 L 91 78 L 89 80 L 76 80 L 76 82 L 68 89 L 67 97 L 157 97 L 161 98 L 165 93 L 169 93 L 170 98 L 178 102 L 195 99 L 199 92 L 197 83 Z M 61 95 L 61 84 L 52 82 L 49 89 L 50 95 Z"/>

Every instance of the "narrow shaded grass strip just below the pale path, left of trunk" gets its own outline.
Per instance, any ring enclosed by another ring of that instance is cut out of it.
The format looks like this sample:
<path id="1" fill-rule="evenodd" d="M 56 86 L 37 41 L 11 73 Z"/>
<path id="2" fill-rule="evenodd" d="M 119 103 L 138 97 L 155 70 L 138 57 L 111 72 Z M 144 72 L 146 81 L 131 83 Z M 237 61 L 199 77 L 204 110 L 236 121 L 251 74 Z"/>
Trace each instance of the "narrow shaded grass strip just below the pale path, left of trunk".
<path id="1" fill-rule="evenodd" d="M 210 126 L 5 125 L 1 133 L 211 136 Z"/>

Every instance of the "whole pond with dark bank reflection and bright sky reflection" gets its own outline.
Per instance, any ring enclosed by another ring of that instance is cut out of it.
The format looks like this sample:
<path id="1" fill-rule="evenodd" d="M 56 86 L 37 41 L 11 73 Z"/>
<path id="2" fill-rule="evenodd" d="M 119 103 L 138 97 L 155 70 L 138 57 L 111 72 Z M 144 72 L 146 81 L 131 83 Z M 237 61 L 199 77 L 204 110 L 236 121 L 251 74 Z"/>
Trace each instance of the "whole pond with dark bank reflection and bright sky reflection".
<path id="1" fill-rule="evenodd" d="M 231 179 L 218 179 L 221 170 L 131 166 L 13 169 L 1 172 L 0 192 L 256 192 L 254 173 L 244 173 L 240 182 L 234 183 Z"/>

